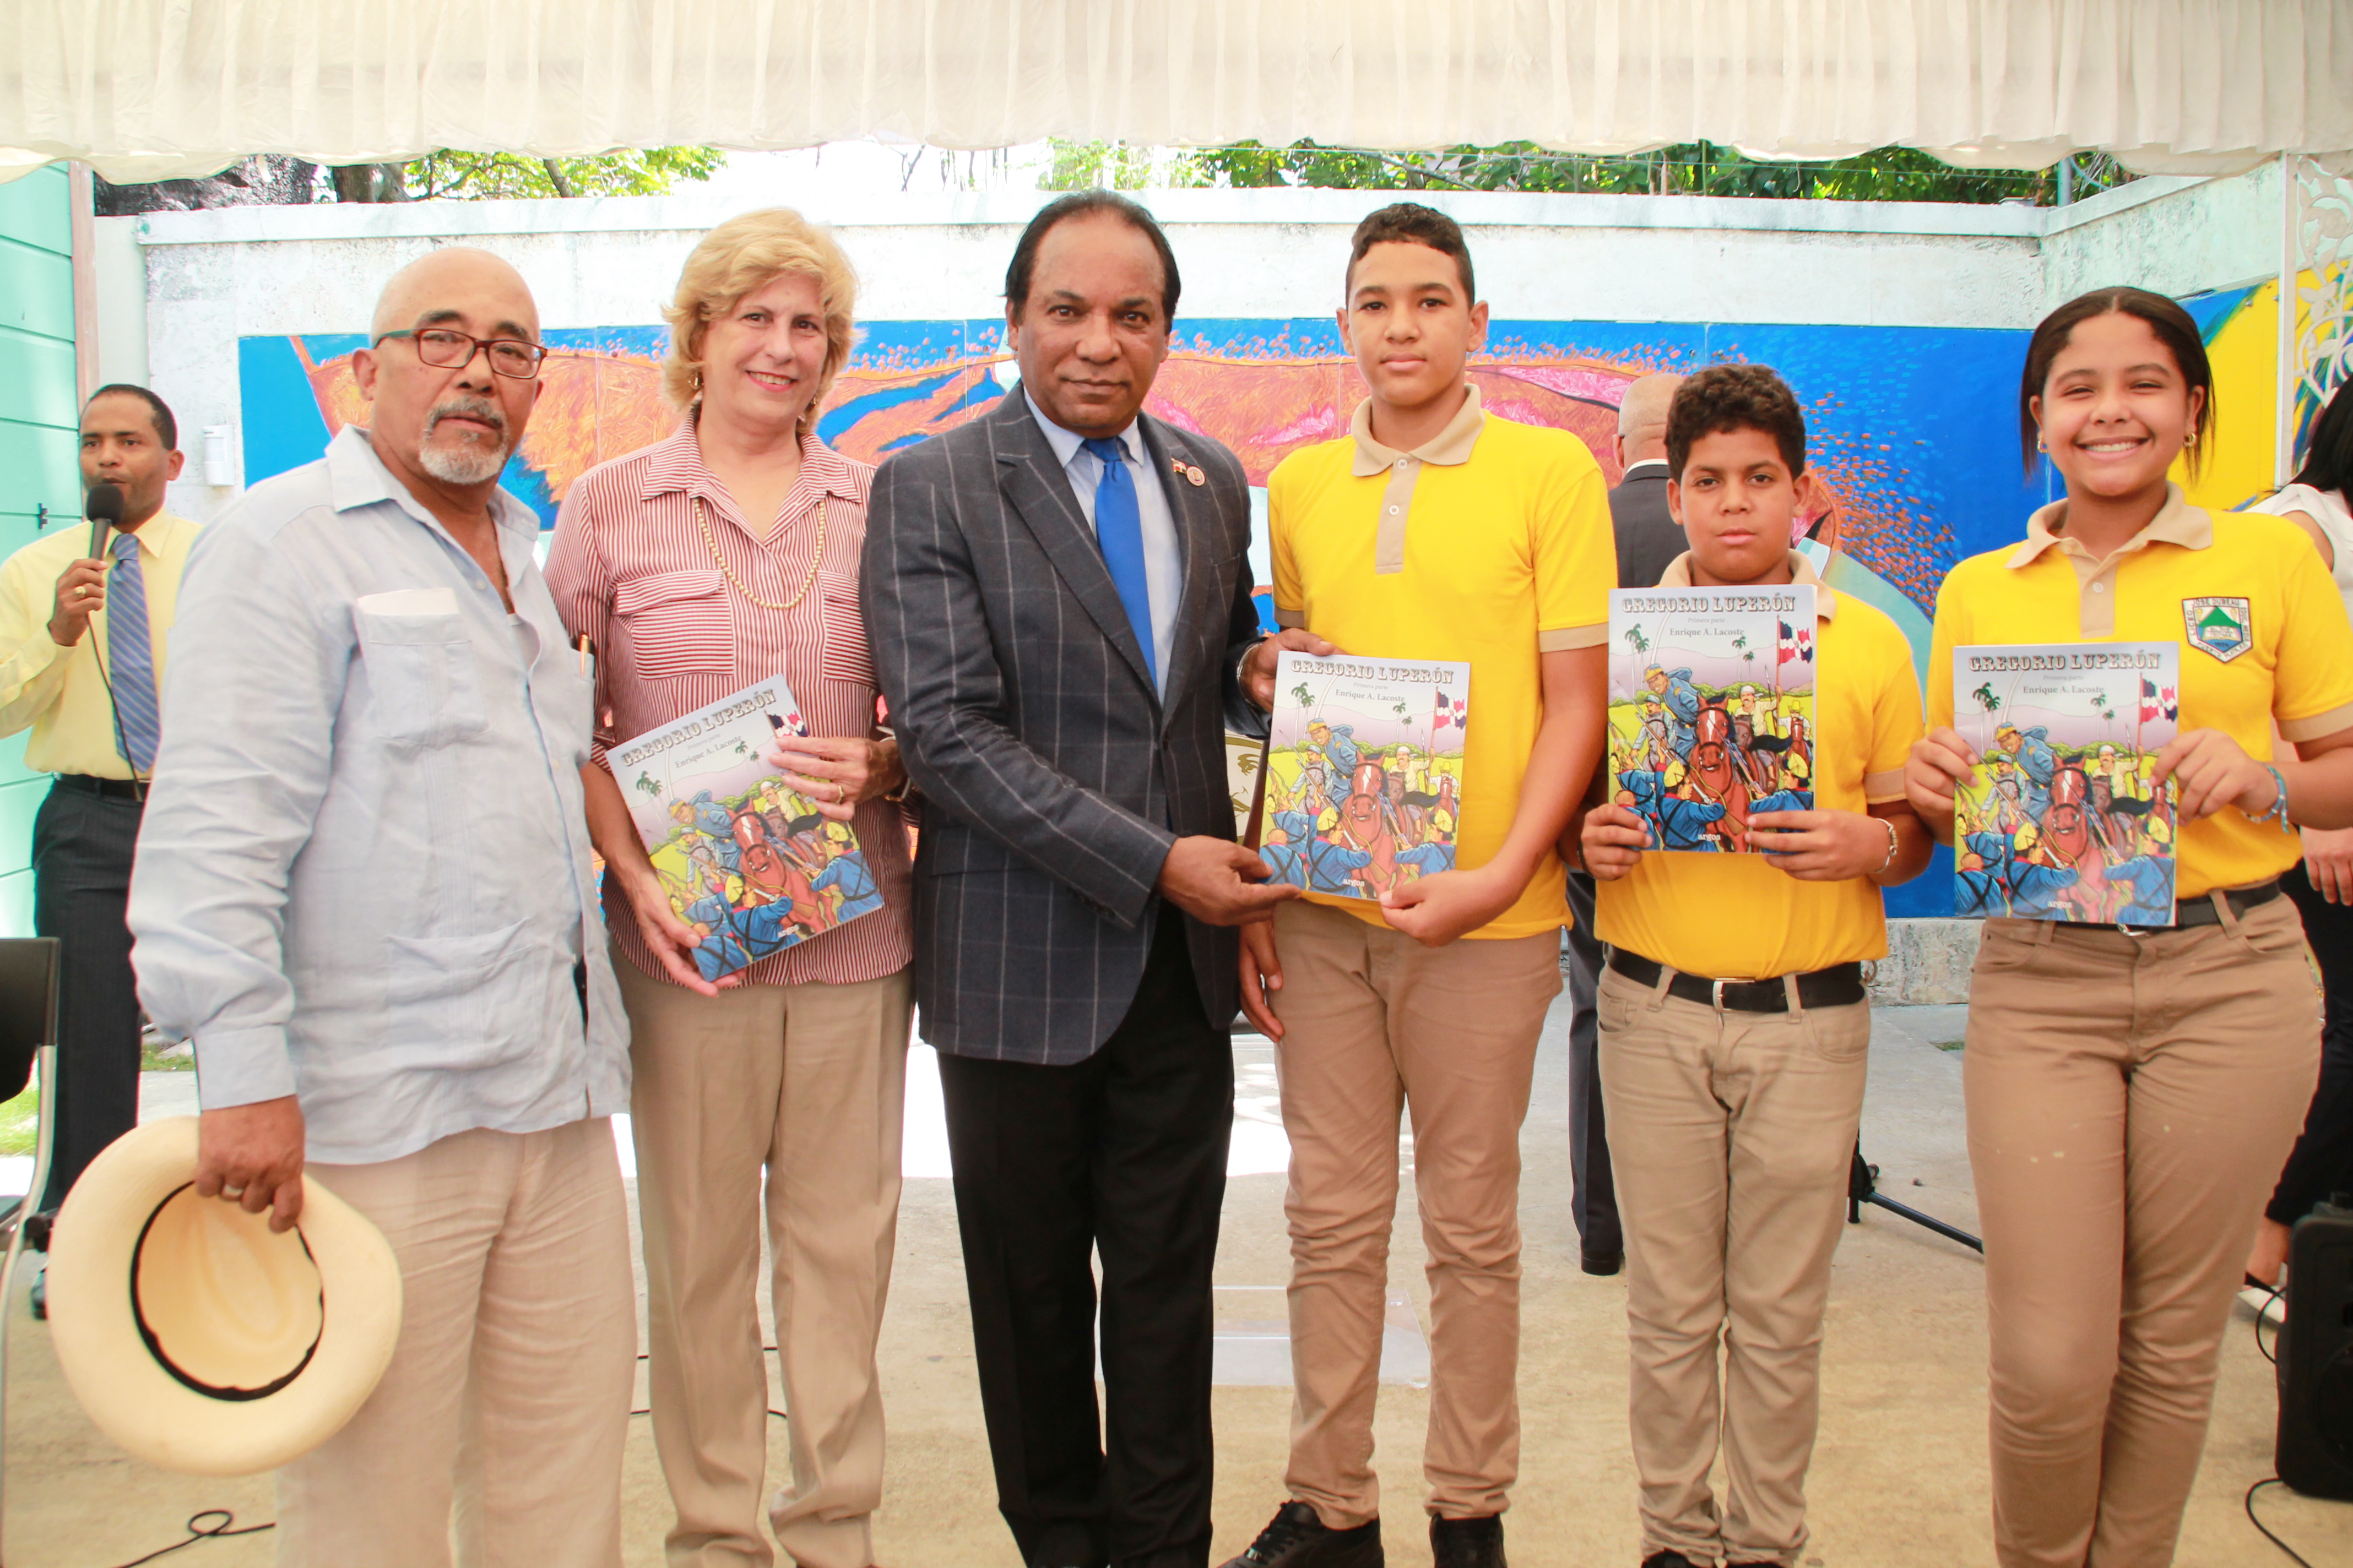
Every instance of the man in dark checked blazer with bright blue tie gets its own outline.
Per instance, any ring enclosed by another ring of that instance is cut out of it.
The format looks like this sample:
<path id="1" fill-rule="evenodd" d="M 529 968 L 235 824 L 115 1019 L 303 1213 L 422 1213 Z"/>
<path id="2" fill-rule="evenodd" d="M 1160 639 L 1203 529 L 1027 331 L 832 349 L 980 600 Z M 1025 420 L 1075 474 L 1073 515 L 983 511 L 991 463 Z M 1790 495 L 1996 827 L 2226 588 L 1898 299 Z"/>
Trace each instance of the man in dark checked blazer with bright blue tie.
<path id="1" fill-rule="evenodd" d="M 1233 842 L 1249 489 L 1141 416 L 1176 259 L 1106 190 L 1005 273 L 1021 386 L 875 475 L 864 597 L 922 799 L 939 1048 L 998 1507 L 1031 1568 L 1209 1554 L 1209 1265 L 1235 936 L 1299 889 Z M 1094 1399 L 1101 1258 L 1101 1366 Z"/>

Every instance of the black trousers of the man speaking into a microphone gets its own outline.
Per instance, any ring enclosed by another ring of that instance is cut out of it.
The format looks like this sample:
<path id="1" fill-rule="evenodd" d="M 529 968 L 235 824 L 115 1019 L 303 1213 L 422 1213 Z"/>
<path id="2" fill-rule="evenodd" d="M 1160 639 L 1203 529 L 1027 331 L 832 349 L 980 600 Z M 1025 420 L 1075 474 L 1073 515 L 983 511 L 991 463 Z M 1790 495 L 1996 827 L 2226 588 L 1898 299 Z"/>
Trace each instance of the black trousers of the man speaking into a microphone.
<path id="1" fill-rule="evenodd" d="M 139 1126 L 139 992 L 122 907 L 139 844 L 134 799 L 49 785 L 33 818 L 33 931 L 59 943 L 56 1084 L 42 1112 L 56 1128 L 42 1208 L 99 1150 Z"/>

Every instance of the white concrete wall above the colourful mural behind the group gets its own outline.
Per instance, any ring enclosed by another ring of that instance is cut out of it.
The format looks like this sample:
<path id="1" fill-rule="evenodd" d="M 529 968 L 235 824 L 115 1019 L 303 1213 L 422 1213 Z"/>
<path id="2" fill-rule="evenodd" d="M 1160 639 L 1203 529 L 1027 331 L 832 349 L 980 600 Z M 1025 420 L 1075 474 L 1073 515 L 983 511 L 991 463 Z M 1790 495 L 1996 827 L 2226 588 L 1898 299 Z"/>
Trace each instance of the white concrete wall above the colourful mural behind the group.
<path id="1" fill-rule="evenodd" d="M 1184 268 L 1181 317 L 1287 317 L 1339 303 L 1348 230 L 1379 197 L 1172 190 L 1148 200 Z M 2042 301 L 2042 214 L 2024 207 L 1433 202 L 1471 226 L 1480 294 L 1499 320 L 2031 327 Z M 1035 205 L 1031 195 L 892 195 L 816 216 L 859 266 L 864 320 L 993 317 L 1005 259 Z M 732 209 L 701 197 L 614 197 L 101 219 L 101 355 L 129 374 L 139 367 L 115 346 L 144 346 L 148 383 L 198 440 L 240 418 L 240 336 L 362 331 L 384 277 L 435 244 L 482 244 L 515 261 L 548 327 L 645 324 L 659 320 L 685 254 Z M 144 266 L 125 261 L 132 254 Z M 144 289 L 127 287 L 134 275 Z M 205 484 L 198 456 L 191 447 L 172 505 L 207 517 L 235 491 Z"/>

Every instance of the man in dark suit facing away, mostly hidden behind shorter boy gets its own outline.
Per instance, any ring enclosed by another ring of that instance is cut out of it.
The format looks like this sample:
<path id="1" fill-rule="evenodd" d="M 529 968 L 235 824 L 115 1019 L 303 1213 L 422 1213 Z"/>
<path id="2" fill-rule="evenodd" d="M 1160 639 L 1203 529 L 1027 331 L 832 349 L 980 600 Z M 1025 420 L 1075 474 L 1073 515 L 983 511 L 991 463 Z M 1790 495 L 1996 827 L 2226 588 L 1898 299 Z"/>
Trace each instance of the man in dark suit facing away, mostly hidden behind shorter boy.
<path id="1" fill-rule="evenodd" d="M 1666 564 L 1682 555 L 1682 527 L 1666 510 L 1666 404 L 1682 376 L 1638 376 L 1619 400 L 1617 458 L 1621 480 L 1609 491 L 1617 531 L 1619 588 L 1657 588 Z M 1598 778 L 1607 783 L 1607 759 Z M 1602 1124 L 1600 1018 L 1595 994 L 1602 945 L 1593 936 L 1593 877 L 1569 867 L 1569 1218 L 1586 1274 L 1626 1267 L 1626 1237 L 1617 1222 L 1617 1182 L 1609 1175 L 1609 1128 Z"/>

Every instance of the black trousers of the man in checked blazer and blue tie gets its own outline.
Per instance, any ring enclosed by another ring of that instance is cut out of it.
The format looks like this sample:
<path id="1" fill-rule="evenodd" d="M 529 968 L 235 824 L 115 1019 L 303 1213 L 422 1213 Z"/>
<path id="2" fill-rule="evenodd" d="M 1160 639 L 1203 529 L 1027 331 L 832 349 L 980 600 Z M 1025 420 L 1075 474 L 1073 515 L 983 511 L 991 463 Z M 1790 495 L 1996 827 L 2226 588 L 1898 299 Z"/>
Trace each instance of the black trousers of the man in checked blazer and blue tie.
<path id="1" fill-rule="evenodd" d="M 1085 1063 L 939 1058 L 998 1509 L 1033 1568 L 1209 1561 L 1233 1044 L 1202 1016 L 1184 917 L 1158 917 L 1136 999 Z"/>

